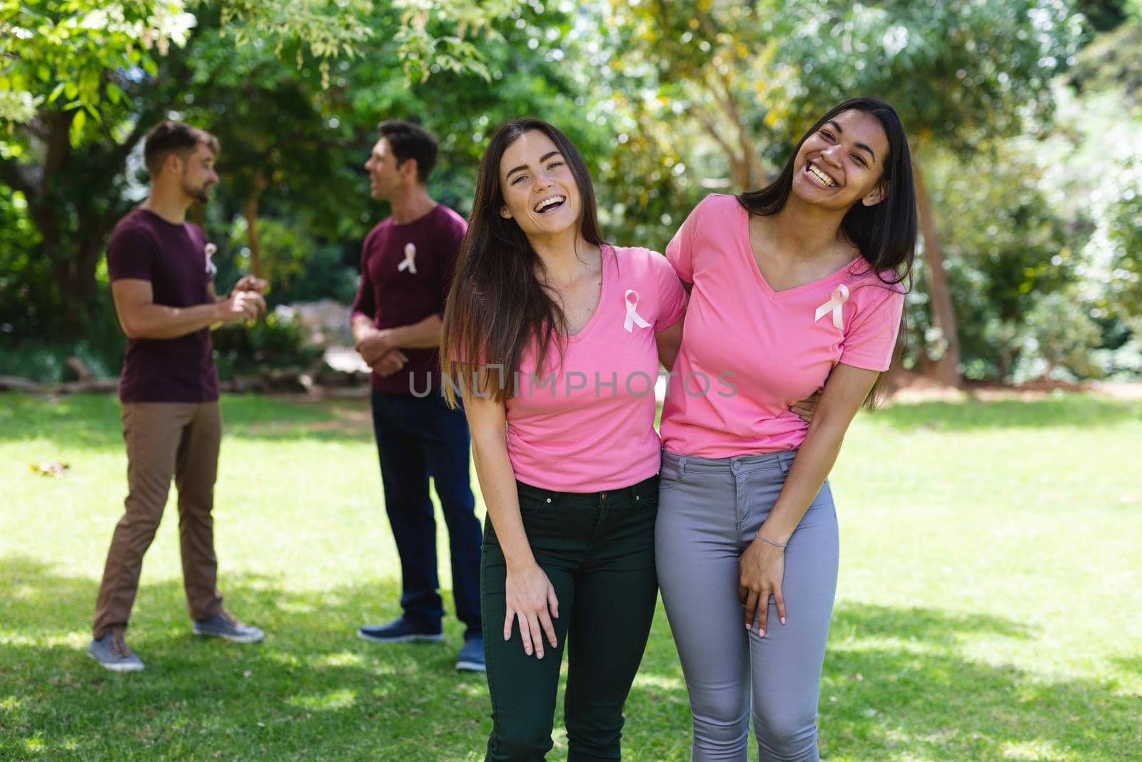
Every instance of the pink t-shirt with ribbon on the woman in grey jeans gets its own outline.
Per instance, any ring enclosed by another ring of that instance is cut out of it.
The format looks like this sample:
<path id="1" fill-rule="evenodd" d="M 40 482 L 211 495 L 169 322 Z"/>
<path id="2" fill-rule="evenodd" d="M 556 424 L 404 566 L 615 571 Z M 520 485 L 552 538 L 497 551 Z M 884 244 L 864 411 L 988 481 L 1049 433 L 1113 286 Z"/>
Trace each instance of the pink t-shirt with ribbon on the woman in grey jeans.
<path id="1" fill-rule="evenodd" d="M 774 291 L 754 260 L 748 212 L 721 194 L 690 214 L 666 257 L 693 283 L 662 407 L 666 449 L 702 458 L 795 449 L 809 424 L 788 408 L 838 362 L 887 370 L 903 289 L 884 284 L 863 258 Z"/>

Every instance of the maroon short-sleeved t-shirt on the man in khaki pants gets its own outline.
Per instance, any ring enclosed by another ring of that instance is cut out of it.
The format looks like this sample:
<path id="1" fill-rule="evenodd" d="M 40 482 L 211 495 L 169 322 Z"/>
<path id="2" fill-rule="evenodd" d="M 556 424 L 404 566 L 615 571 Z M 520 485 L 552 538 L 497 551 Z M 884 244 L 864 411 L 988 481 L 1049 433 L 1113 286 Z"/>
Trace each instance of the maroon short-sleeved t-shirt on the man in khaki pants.
<path id="1" fill-rule="evenodd" d="M 119 220 L 107 244 L 111 281 L 151 281 L 154 303 L 167 307 L 209 304 L 207 239 L 190 223 L 175 225 L 153 211 L 135 209 Z M 178 338 L 127 342 L 119 378 L 123 402 L 214 402 L 218 374 L 210 329 Z"/>

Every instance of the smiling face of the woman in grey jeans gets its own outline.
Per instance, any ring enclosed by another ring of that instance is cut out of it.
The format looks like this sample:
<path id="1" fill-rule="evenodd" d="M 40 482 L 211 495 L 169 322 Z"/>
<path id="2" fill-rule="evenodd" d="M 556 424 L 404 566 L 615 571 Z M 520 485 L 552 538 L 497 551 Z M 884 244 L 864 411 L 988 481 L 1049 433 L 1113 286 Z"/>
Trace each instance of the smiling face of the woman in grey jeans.
<path id="1" fill-rule="evenodd" d="M 794 162 L 793 193 L 806 203 L 847 209 L 884 198 L 888 137 L 863 111 L 843 111 L 805 138 Z"/>

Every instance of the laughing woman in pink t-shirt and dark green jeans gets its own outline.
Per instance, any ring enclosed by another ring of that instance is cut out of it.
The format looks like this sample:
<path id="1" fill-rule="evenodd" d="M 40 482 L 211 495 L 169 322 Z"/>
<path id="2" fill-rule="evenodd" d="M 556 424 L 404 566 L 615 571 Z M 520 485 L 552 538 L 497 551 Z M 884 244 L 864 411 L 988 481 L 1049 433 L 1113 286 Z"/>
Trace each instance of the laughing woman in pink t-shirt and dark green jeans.
<path id="1" fill-rule="evenodd" d="M 604 242 L 566 136 L 536 119 L 496 134 L 441 352 L 488 507 L 489 760 L 552 748 L 564 645 L 569 757 L 619 756 L 657 601 L 656 337 L 684 303 L 664 257 Z"/>

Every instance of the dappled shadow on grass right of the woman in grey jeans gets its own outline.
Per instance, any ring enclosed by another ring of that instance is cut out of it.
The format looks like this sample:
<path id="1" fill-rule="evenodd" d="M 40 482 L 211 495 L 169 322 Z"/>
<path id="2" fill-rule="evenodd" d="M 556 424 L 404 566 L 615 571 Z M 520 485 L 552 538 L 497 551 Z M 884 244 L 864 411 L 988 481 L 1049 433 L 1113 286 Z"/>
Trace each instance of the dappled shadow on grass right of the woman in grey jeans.
<path id="1" fill-rule="evenodd" d="M 1094 680 L 1052 680 L 964 653 L 976 639 L 1035 636 L 1023 623 L 998 616 L 838 607 L 821 683 L 822 759 L 1131 759 L 1142 744 L 1136 697 Z M 656 663 L 653 682 L 681 676 L 676 665 Z M 644 660 L 643 674 L 648 666 Z M 689 729 L 689 714 L 679 727 Z"/>

